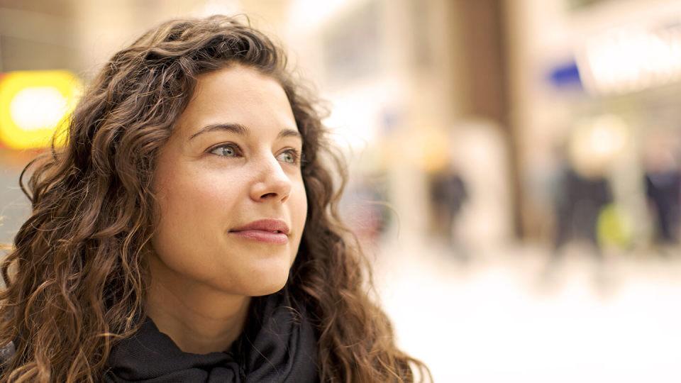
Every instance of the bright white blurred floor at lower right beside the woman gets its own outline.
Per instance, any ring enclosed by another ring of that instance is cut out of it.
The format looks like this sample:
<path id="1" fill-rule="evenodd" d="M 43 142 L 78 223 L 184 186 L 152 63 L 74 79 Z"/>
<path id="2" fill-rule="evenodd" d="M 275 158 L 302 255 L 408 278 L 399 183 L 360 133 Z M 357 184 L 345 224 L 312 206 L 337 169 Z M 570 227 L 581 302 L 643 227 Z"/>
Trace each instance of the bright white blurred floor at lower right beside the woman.
<path id="1" fill-rule="evenodd" d="M 511 244 L 461 257 L 395 240 L 373 254 L 398 343 L 435 382 L 681 382 L 675 249 L 553 257 Z"/>

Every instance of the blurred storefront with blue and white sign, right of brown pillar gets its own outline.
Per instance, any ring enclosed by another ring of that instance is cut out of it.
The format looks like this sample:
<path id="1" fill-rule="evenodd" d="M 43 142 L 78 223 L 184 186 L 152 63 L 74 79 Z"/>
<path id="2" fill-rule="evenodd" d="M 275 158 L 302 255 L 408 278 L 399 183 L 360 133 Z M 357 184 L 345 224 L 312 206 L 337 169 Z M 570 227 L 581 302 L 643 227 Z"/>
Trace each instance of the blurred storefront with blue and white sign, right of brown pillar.
<path id="1" fill-rule="evenodd" d="M 506 5 L 528 237 L 555 240 L 565 228 L 591 224 L 601 246 L 677 241 L 681 3 Z M 566 217 L 559 206 L 569 199 L 569 174 L 601 180 L 611 196 L 580 196 Z M 580 204 L 595 209 L 593 217 L 575 213 Z"/>

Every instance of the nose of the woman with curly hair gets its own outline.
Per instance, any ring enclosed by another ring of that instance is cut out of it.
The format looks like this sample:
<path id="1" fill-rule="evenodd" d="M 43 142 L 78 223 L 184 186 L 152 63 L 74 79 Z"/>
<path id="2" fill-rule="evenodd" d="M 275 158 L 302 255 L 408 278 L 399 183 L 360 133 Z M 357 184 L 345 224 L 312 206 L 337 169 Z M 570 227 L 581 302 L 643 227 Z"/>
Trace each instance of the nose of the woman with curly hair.
<path id="1" fill-rule="evenodd" d="M 258 176 L 250 189 L 250 198 L 256 202 L 281 201 L 289 198 L 291 179 L 274 156 L 258 162 Z"/>

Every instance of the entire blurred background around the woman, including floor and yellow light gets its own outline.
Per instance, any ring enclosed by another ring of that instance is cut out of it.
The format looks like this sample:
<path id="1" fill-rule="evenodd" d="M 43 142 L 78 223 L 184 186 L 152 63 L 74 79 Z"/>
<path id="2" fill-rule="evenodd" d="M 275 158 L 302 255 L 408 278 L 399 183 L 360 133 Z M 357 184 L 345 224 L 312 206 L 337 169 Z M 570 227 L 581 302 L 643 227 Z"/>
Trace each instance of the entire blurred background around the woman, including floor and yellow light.
<path id="1" fill-rule="evenodd" d="M 681 382 L 679 0 L 0 0 L 0 243 L 106 60 L 213 13 L 328 100 L 343 213 L 436 382 Z"/>

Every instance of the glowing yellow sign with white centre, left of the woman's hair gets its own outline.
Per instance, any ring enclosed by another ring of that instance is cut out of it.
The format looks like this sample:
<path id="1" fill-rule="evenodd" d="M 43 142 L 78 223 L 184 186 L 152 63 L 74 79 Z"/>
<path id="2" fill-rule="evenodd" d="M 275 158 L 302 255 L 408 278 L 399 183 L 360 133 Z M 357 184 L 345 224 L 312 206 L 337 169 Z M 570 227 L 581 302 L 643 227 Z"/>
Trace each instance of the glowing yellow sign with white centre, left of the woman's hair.
<path id="1" fill-rule="evenodd" d="M 57 129 L 65 128 L 80 89 L 77 77 L 67 71 L 5 74 L 0 79 L 0 141 L 15 149 L 48 147 Z"/>

